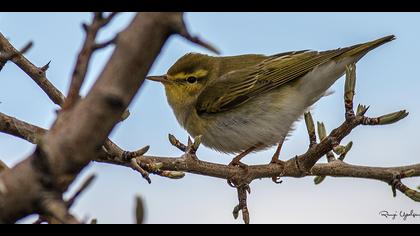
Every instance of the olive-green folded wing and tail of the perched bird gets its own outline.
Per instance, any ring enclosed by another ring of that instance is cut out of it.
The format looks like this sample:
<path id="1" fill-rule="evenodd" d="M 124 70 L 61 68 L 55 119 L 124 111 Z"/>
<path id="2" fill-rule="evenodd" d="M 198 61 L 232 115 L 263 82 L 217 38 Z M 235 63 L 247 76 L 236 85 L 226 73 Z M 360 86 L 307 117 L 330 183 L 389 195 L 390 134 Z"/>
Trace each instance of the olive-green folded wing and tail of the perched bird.
<path id="1" fill-rule="evenodd" d="M 231 71 L 200 94 L 196 109 L 199 114 L 223 112 L 248 100 L 301 78 L 315 67 L 333 59 L 361 58 L 370 50 L 395 39 L 393 35 L 371 42 L 324 52 L 296 51 L 277 54 L 262 62 Z"/>

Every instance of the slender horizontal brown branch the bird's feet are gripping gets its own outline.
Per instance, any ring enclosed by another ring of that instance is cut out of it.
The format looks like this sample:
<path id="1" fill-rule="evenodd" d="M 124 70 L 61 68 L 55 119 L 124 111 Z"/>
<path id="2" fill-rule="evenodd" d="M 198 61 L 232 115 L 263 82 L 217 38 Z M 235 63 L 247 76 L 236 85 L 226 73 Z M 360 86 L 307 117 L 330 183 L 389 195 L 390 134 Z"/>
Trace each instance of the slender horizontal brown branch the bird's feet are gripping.
<path id="1" fill-rule="evenodd" d="M 4 114 L 0 113 L 0 132 L 8 132 L 8 129 L 4 129 L 2 125 L 2 120 L 4 120 Z M 8 116 L 6 116 L 8 117 Z M 31 142 L 35 133 L 44 133 L 45 130 L 25 123 L 23 121 L 17 120 L 13 117 L 8 117 L 10 123 L 15 124 L 17 127 L 12 130 L 19 130 L 15 135 L 19 138 L 28 140 Z M 107 148 L 113 144 L 112 142 L 107 141 Z M 122 155 L 124 150 L 118 146 L 113 146 L 111 148 L 113 153 L 109 153 L 105 150 L 102 150 L 100 154 L 95 158 L 95 161 L 109 164 L 116 164 L 121 166 L 127 166 L 131 168 L 131 164 L 128 160 L 124 160 Z M 116 151 L 116 152 L 115 152 Z M 302 158 L 299 156 L 298 159 Z M 271 178 L 272 176 L 278 176 L 282 174 L 285 177 L 301 177 L 302 172 L 296 168 L 295 161 L 296 158 L 292 158 L 286 163 L 286 168 L 284 169 L 280 165 L 269 164 L 269 165 L 256 165 L 249 166 L 248 170 L 245 171 L 241 168 L 230 167 L 222 164 L 215 164 L 205 161 L 199 161 L 192 158 L 181 158 L 181 157 L 156 157 L 156 156 L 137 156 L 135 157 L 138 163 L 161 163 L 161 169 L 167 171 L 182 171 L 194 174 L 200 174 L 204 176 L 211 176 L 221 179 L 231 178 L 232 176 L 240 176 L 246 179 L 247 181 L 252 181 L 259 178 Z M 389 182 L 393 179 L 396 173 L 402 173 L 408 170 L 414 170 L 412 177 L 420 176 L 420 164 L 410 165 L 410 166 L 401 166 L 401 167 L 368 167 L 368 166 L 356 166 L 346 164 L 342 161 L 332 161 L 328 164 L 316 164 L 312 167 L 310 173 L 306 173 L 304 176 L 332 176 L 332 177 L 354 177 L 354 178 L 366 178 L 366 179 L 376 179 L 385 182 Z M 245 173 L 247 172 L 247 173 Z"/>

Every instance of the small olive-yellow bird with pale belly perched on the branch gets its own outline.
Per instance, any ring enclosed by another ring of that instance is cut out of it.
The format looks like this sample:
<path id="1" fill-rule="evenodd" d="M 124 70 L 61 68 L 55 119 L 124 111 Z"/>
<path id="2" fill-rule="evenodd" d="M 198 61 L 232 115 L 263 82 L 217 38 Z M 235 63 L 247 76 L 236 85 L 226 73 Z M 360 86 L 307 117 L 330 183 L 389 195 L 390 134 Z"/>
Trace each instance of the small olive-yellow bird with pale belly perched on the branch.
<path id="1" fill-rule="evenodd" d="M 328 51 L 291 51 L 271 56 L 216 57 L 188 53 L 161 82 L 178 122 L 201 143 L 223 153 L 239 154 L 230 165 L 243 166 L 247 154 L 278 144 L 272 163 L 293 124 L 326 95 L 346 66 L 394 35 Z"/>

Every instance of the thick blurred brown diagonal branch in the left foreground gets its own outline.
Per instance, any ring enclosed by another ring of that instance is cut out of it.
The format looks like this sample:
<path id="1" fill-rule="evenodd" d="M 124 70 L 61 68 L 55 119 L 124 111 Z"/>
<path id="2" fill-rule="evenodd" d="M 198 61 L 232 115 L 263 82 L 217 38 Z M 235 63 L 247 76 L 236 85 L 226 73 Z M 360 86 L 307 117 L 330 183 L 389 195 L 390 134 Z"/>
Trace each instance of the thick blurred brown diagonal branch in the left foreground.
<path id="1" fill-rule="evenodd" d="M 182 18 L 182 14 L 138 14 L 120 34 L 115 51 L 86 98 L 59 113 L 35 153 L 0 174 L 7 190 L 0 194 L 0 222 L 37 213 L 41 210 L 37 208 L 40 193 L 63 193 L 98 154 L 173 32 L 176 17 Z"/>

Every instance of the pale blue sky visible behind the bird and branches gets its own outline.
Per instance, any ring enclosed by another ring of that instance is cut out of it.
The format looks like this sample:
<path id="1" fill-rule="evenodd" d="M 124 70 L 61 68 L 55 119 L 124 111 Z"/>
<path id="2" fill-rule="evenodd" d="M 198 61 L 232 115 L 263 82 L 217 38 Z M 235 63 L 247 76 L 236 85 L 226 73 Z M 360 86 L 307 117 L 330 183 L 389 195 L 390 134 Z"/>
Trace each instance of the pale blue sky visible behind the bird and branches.
<path id="1" fill-rule="evenodd" d="M 105 40 L 122 30 L 133 13 L 120 14 L 101 32 Z M 328 50 L 395 34 L 397 40 L 370 52 L 357 67 L 355 103 L 371 105 L 368 115 L 377 116 L 407 109 L 403 121 L 382 127 L 356 129 L 343 143 L 354 141 L 346 160 L 351 164 L 398 166 L 420 162 L 420 22 L 419 13 L 186 13 L 191 32 L 216 45 L 222 55 L 245 53 L 275 54 L 283 51 Z M 0 13 L 0 32 L 21 48 L 32 40 L 26 56 L 38 66 L 52 60 L 48 78 L 67 93 L 76 55 L 84 38 L 81 23 L 89 13 Z M 162 49 L 150 74 L 163 74 L 187 52 L 209 53 L 203 48 L 173 36 Z M 101 72 L 112 48 L 95 54 L 83 94 Z M 327 129 L 344 119 L 344 79 L 332 87 L 335 93 L 320 100 L 314 119 Z M 58 108 L 42 90 L 12 63 L 0 73 L 0 112 L 48 128 Z M 111 139 L 126 150 L 150 145 L 149 154 L 179 156 L 168 133 L 185 141 L 188 134 L 176 122 L 166 102 L 163 87 L 146 82 L 133 103 L 131 116 L 119 124 Z M 283 159 L 306 151 L 308 138 L 304 122 L 296 125 L 281 153 Z M 26 141 L 0 134 L 0 159 L 10 166 L 33 152 Z M 249 155 L 248 164 L 268 163 L 274 148 Z M 206 161 L 229 163 L 232 156 L 201 147 L 198 156 Z M 324 162 L 324 160 L 322 160 Z M 72 211 L 80 218 L 95 217 L 99 223 L 133 223 L 134 198 L 146 204 L 145 223 L 242 223 L 234 220 L 236 191 L 225 180 L 187 174 L 170 180 L 152 175 L 147 184 L 131 169 L 106 164 L 89 165 L 77 183 L 91 173 L 97 180 Z M 76 185 L 77 185 L 76 183 Z M 411 187 L 419 179 L 404 180 Z M 414 210 L 420 205 L 402 194 L 392 197 L 391 188 L 382 182 L 348 178 L 327 178 L 315 186 L 313 178 L 256 180 L 248 200 L 251 223 L 420 223 L 420 218 L 392 221 L 379 215 Z M 31 222 L 33 217 L 22 223 Z"/>

